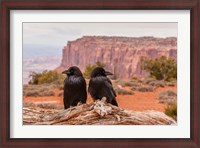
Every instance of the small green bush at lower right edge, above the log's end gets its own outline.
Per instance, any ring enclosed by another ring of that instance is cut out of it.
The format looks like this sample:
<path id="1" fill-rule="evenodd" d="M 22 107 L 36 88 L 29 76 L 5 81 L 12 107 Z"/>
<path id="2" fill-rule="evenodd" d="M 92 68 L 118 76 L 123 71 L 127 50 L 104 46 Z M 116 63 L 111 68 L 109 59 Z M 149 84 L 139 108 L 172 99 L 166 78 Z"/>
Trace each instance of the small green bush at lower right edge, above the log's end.
<path id="1" fill-rule="evenodd" d="M 171 105 L 168 105 L 165 109 L 165 114 L 177 120 L 177 103 L 174 102 Z"/>

